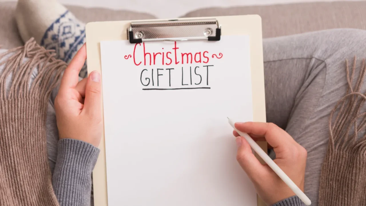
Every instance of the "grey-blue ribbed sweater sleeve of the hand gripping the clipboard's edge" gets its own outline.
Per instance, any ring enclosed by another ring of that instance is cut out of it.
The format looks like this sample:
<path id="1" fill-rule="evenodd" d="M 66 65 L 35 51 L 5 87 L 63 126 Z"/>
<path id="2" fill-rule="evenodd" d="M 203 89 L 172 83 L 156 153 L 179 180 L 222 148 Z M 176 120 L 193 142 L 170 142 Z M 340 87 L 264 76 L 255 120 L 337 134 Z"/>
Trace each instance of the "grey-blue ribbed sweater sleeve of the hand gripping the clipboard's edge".
<path id="1" fill-rule="evenodd" d="M 75 139 L 59 140 L 57 150 L 52 185 L 60 206 L 89 206 L 91 173 L 100 150 Z"/>

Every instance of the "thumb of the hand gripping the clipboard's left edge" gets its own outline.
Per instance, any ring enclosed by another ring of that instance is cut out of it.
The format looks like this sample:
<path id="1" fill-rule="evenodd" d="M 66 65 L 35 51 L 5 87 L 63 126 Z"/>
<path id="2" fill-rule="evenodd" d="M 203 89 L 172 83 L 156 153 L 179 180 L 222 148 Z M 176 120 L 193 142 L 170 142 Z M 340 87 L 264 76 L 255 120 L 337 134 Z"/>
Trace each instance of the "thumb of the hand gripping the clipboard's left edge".
<path id="1" fill-rule="evenodd" d="M 92 117 L 101 115 L 101 78 L 97 71 L 90 73 L 85 87 L 83 111 Z"/>

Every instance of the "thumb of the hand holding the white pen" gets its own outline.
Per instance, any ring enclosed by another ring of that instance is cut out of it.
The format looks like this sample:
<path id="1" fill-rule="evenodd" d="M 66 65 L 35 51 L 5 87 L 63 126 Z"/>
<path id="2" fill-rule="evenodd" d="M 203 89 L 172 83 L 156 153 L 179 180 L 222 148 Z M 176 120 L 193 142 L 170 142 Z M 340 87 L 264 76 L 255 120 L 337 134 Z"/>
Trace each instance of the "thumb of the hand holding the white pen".
<path id="1" fill-rule="evenodd" d="M 244 137 L 236 137 L 236 144 L 238 146 L 236 159 L 238 160 L 239 165 L 252 181 L 259 180 L 266 171 L 265 166 L 254 156 L 249 143 Z"/>

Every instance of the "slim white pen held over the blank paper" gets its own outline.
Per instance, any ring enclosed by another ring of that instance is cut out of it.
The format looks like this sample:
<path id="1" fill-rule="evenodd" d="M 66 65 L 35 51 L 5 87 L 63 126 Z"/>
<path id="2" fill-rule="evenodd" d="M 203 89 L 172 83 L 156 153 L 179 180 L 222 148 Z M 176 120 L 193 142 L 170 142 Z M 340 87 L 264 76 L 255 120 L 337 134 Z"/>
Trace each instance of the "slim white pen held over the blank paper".
<path id="1" fill-rule="evenodd" d="M 259 145 L 253 139 L 251 139 L 251 137 L 247 133 L 241 132 L 236 129 L 235 122 L 231 121 L 231 119 L 229 119 L 229 124 L 232 126 L 232 128 L 235 129 L 236 132 L 238 132 L 240 136 L 244 137 L 247 140 L 250 147 L 253 148 L 253 150 L 259 155 L 259 157 L 261 157 L 267 163 L 267 165 L 284 181 L 284 183 L 286 183 L 288 187 L 290 187 L 291 190 L 294 191 L 294 193 L 301 199 L 303 203 L 305 203 L 305 205 L 311 205 L 311 201 L 305 195 L 305 193 L 300 190 L 300 188 L 290 179 L 290 177 L 288 177 L 281 170 L 281 168 L 275 162 L 273 162 L 268 154 L 264 152 L 262 148 L 259 147 Z"/>

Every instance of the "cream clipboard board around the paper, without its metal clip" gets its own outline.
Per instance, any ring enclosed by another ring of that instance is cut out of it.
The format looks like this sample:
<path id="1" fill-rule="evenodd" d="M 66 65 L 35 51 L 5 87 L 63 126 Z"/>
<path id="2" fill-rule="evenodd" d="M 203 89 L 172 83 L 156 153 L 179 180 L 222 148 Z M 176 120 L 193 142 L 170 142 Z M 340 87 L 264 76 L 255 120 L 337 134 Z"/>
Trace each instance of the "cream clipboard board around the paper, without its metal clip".
<path id="1" fill-rule="evenodd" d="M 253 121 L 266 121 L 265 110 L 265 90 L 264 90 L 264 66 L 263 66 L 263 46 L 262 46 L 262 23 L 258 15 L 242 16 L 214 16 L 209 18 L 178 18 L 174 20 L 193 21 L 197 19 L 216 19 L 222 27 L 221 35 L 249 35 L 250 38 L 250 66 L 253 93 Z M 162 19 L 141 20 L 142 21 L 162 21 Z M 171 21 L 166 19 L 164 21 Z M 220 28 L 221 28 L 220 27 Z M 131 31 L 131 21 L 110 21 L 110 22 L 90 22 L 86 25 L 87 44 L 87 69 L 101 72 L 101 41 L 127 40 L 126 31 Z M 135 33 L 134 36 L 139 37 Z M 131 38 L 130 38 L 131 39 Z M 206 40 L 207 41 L 207 40 Z M 233 40 L 235 41 L 235 39 Z M 266 142 L 259 143 L 266 151 Z M 107 171 L 105 160 L 104 135 L 100 143 L 100 155 L 93 170 L 93 195 L 94 206 L 107 206 Z M 257 157 L 262 161 L 259 157 Z M 264 202 L 258 197 L 258 206 L 264 206 Z"/>

